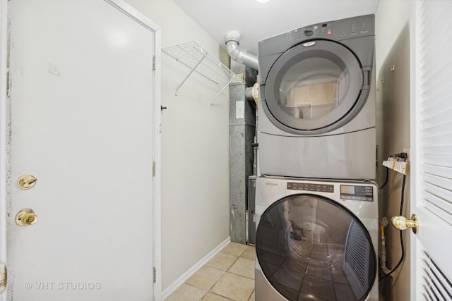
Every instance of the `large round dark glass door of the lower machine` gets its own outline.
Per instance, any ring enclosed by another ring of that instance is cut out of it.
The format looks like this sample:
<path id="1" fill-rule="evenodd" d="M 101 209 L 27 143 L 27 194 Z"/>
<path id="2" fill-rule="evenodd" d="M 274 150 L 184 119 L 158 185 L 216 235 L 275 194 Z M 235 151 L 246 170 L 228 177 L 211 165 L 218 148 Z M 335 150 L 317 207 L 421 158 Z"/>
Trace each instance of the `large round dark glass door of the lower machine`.
<path id="1" fill-rule="evenodd" d="M 291 195 L 268 207 L 256 230 L 256 256 L 267 281 L 287 300 L 364 300 L 376 278 L 376 254 L 364 225 L 318 195 Z"/>

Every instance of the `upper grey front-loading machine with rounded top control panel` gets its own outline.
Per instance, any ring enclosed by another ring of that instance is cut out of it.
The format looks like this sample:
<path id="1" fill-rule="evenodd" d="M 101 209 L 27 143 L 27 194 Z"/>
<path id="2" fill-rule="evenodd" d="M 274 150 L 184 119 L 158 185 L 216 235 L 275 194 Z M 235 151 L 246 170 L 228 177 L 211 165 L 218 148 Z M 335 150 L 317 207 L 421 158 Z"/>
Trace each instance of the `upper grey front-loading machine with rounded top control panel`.
<path id="1" fill-rule="evenodd" d="M 374 31 L 368 15 L 258 42 L 261 174 L 375 178 Z"/>

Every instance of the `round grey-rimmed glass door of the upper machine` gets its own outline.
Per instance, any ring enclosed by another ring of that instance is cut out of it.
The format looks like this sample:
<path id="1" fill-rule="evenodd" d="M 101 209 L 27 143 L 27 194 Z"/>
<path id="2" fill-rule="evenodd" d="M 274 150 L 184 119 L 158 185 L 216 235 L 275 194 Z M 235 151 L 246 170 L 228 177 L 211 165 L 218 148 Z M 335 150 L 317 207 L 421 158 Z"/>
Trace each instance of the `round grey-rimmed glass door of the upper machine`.
<path id="1" fill-rule="evenodd" d="M 362 109 L 370 74 L 342 44 L 326 40 L 298 44 L 270 68 L 261 87 L 263 109 L 288 133 L 327 133 Z"/>

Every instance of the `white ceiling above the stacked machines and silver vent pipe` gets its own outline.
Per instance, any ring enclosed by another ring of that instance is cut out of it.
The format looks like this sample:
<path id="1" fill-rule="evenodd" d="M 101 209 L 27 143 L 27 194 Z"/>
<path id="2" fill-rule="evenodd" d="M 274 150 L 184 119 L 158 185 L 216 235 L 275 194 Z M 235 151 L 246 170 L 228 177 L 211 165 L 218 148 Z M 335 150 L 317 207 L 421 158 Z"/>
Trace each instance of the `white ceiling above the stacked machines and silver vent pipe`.
<path id="1" fill-rule="evenodd" d="M 376 13 L 379 0 L 173 0 L 218 43 L 240 32 L 240 49 L 257 54 L 261 39 L 324 21 Z"/>

